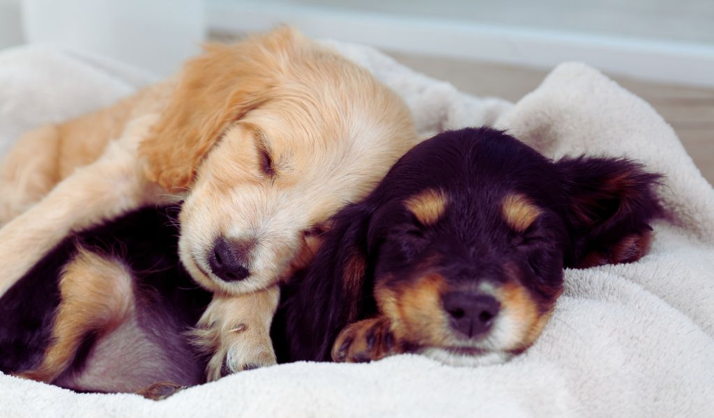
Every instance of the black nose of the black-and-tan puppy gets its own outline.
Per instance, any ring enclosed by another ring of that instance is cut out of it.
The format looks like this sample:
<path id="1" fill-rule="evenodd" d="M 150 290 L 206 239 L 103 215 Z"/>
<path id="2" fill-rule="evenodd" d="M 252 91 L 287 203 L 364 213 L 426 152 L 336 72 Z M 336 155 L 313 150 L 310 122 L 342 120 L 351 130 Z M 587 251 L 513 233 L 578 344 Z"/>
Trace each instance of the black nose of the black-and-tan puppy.
<path id="1" fill-rule="evenodd" d="M 501 308 L 495 297 L 471 292 L 447 293 L 443 304 L 451 327 L 469 338 L 490 330 Z"/>

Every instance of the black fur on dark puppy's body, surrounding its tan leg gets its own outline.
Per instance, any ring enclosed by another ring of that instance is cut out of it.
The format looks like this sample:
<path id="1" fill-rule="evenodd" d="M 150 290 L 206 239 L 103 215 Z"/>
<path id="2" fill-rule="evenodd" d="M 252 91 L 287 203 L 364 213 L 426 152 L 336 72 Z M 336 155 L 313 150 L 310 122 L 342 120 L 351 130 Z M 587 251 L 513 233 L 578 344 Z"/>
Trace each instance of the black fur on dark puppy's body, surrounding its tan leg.
<path id="1" fill-rule="evenodd" d="M 150 207 L 127 213 L 66 238 L 42 258 L 0 299 L 0 370 L 24 372 L 41 361 L 59 305 L 59 276 L 79 245 L 119 258 L 130 267 L 141 301 L 142 326 L 166 328 L 156 330 L 160 334 L 195 325 L 210 294 L 191 280 L 178 260 L 179 208 Z M 86 336 L 68 372 L 81 369 L 93 340 L 91 333 Z"/>

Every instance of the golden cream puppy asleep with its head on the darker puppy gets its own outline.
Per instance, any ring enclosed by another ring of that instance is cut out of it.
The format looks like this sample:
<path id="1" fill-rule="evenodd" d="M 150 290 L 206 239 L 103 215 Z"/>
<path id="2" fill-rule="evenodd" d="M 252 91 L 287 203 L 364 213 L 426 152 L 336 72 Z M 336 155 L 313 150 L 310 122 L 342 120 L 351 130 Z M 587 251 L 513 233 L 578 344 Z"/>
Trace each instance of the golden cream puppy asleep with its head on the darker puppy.
<path id="1" fill-rule="evenodd" d="M 16 144 L 0 168 L 0 297 L 72 233 L 184 200 L 181 263 L 214 295 L 194 336 L 208 379 L 274 364 L 276 284 L 310 260 L 323 223 L 417 140 L 395 93 L 296 31 L 209 46 L 176 78 Z M 83 281 L 106 275 L 79 265 Z M 129 297 L 113 289 L 113 300 Z M 87 299 L 80 287 L 62 303 L 81 311 Z M 115 329 L 63 318 L 27 376 L 54 382 L 83 348 L 66 335 L 111 339 Z"/>

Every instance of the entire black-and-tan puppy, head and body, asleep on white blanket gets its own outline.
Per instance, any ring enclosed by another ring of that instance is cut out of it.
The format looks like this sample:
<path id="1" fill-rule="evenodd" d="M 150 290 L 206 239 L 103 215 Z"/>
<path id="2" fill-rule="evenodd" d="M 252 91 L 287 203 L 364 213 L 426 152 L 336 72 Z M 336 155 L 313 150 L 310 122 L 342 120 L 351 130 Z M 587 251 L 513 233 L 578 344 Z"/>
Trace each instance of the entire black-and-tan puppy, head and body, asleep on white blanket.
<path id="1" fill-rule="evenodd" d="M 542 332 L 563 267 L 645 254 L 657 179 L 625 159 L 553 163 L 491 128 L 442 133 L 328 220 L 314 261 L 283 284 L 280 360 L 507 360 Z M 178 261 L 178 211 L 143 208 L 57 245 L 0 299 L 0 369 L 73 389 L 151 385 L 154 399 L 202 382 L 186 330 L 210 295 Z"/>

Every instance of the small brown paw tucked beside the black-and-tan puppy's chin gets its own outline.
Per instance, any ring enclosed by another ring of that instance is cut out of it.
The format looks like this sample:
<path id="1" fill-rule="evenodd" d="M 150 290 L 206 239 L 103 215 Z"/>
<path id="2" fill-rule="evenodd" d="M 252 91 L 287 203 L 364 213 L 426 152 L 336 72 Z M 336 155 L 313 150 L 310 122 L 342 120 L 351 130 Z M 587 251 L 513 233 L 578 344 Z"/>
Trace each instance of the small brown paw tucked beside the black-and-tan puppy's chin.
<path id="1" fill-rule="evenodd" d="M 363 363 L 401 352 L 390 327 L 391 322 L 385 317 L 348 325 L 335 340 L 332 360 Z"/>

